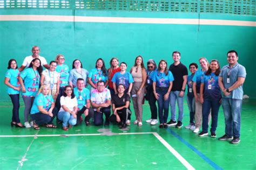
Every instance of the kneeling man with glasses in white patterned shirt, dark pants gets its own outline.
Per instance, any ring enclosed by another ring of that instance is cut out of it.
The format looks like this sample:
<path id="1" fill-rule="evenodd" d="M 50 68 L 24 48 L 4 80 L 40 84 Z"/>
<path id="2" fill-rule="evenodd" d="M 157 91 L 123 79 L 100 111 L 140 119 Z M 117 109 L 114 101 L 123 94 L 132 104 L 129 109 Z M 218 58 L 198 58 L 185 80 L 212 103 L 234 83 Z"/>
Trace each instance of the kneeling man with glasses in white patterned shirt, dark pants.
<path id="1" fill-rule="evenodd" d="M 103 112 L 106 117 L 105 126 L 109 125 L 111 95 L 110 90 L 105 88 L 104 81 L 97 82 L 97 89 L 92 90 L 91 103 L 94 110 L 94 124 L 103 124 Z"/>

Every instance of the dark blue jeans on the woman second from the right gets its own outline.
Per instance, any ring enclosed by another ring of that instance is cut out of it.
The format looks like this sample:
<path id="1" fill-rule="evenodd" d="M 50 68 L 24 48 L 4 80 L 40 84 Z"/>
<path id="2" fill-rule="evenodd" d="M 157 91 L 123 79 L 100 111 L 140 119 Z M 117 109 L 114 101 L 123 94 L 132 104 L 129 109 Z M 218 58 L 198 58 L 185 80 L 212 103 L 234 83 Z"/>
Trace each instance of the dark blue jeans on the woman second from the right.
<path id="1" fill-rule="evenodd" d="M 203 132 L 208 132 L 208 117 L 212 110 L 211 132 L 215 133 L 218 124 L 220 102 L 219 100 L 204 99 L 203 103 Z"/>

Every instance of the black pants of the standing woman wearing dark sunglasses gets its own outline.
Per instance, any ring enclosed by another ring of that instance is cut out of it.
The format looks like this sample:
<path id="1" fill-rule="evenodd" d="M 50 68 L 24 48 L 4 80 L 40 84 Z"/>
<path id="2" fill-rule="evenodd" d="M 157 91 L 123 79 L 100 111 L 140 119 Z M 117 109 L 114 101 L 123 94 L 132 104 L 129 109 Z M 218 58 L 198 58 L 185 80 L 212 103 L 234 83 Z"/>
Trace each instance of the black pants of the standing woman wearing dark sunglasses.
<path id="1" fill-rule="evenodd" d="M 157 99 L 154 97 L 153 86 L 147 86 L 147 100 L 149 101 L 151 119 L 157 119 Z"/>

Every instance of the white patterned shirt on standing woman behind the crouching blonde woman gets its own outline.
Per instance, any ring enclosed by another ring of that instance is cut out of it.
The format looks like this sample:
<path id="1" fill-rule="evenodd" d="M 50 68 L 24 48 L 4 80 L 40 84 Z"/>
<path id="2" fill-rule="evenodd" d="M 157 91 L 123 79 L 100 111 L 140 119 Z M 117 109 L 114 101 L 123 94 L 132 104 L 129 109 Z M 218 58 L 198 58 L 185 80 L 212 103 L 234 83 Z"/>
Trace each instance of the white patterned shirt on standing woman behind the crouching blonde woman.
<path id="1" fill-rule="evenodd" d="M 57 89 L 57 81 L 59 77 L 59 73 L 54 71 L 54 72 L 49 72 L 49 69 L 45 69 L 42 72 L 42 75 L 44 75 L 44 84 L 49 84 L 51 90 L 56 90 Z"/>

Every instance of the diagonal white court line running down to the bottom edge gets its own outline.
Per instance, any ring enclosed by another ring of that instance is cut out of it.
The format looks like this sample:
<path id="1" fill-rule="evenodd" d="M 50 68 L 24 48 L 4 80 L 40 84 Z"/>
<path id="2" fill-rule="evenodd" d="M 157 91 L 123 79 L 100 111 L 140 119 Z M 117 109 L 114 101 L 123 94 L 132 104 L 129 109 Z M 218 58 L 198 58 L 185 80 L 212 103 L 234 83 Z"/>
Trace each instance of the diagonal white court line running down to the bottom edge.
<path id="1" fill-rule="evenodd" d="M 154 136 L 183 164 L 187 169 L 194 170 L 195 168 L 188 163 L 174 148 L 167 143 L 157 132 L 152 132 Z"/>

